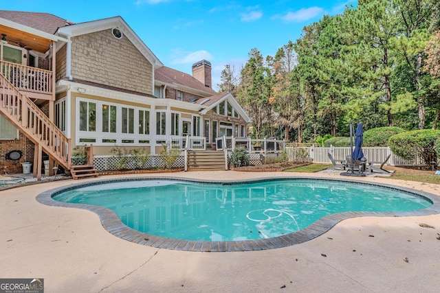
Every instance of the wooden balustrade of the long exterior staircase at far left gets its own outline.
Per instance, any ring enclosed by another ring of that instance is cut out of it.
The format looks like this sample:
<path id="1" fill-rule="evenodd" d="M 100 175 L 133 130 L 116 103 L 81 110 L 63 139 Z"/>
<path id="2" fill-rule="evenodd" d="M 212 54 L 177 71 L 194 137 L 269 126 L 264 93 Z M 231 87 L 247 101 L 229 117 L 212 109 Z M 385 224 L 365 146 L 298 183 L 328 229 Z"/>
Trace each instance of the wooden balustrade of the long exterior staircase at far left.
<path id="1" fill-rule="evenodd" d="M 0 72 L 0 86 L 3 88 L 0 97 L 0 110 L 14 126 L 28 133 L 29 139 L 35 144 L 41 144 L 45 152 L 54 156 L 53 159 L 61 163 L 63 167 L 70 168 L 69 156 L 70 139 L 50 121 L 43 111 L 23 95 L 9 80 Z M 42 143 L 46 141 L 45 143 Z"/>

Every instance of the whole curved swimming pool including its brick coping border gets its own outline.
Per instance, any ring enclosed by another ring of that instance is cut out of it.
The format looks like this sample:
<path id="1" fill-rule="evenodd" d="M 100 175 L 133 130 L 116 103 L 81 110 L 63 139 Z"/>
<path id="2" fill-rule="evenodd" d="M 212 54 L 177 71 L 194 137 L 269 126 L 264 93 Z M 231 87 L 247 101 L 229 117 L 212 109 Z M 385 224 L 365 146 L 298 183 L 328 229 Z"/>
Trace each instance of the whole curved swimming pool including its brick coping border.
<path id="1" fill-rule="evenodd" d="M 49 194 L 52 202 L 44 203 L 91 209 L 108 231 L 124 239 L 207 251 L 292 245 L 328 231 L 344 218 L 426 214 L 432 213 L 433 204 L 426 195 L 397 187 L 317 178 L 220 183 L 130 178 Z M 115 217 L 123 224 L 106 226 L 105 218 Z"/>

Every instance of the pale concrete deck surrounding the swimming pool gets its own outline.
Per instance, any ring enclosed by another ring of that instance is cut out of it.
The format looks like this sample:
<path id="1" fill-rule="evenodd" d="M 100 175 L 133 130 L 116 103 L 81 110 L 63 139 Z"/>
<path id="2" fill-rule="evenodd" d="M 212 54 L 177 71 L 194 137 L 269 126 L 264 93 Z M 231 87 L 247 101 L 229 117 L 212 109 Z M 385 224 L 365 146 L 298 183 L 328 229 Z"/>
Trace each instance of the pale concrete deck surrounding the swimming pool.
<path id="1" fill-rule="evenodd" d="M 311 175 L 341 178 L 287 172 L 151 174 L 205 180 Z M 87 180 L 96 179 L 80 181 Z M 440 196 L 439 185 L 378 177 L 353 180 Z M 440 291 L 440 215 L 353 218 L 287 248 L 194 253 L 133 244 L 105 231 L 95 213 L 35 200 L 47 189 L 74 183 L 78 180 L 0 191 L 0 278 L 42 278 L 46 293 Z"/>

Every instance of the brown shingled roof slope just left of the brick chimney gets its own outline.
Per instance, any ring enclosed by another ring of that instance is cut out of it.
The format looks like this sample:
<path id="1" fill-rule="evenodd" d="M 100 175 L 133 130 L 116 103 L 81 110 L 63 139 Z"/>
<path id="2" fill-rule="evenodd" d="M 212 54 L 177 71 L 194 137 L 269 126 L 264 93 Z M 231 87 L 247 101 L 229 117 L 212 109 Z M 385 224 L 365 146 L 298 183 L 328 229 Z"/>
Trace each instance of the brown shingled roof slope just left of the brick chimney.
<path id="1" fill-rule="evenodd" d="M 155 81 L 163 82 L 164 84 L 173 84 L 174 86 L 179 85 L 186 89 L 194 89 L 208 95 L 217 94 L 216 91 L 208 86 L 205 86 L 205 84 L 202 84 L 199 82 L 199 80 L 193 78 L 192 75 L 172 69 L 170 67 L 164 66 L 156 69 L 154 78 Z"/>

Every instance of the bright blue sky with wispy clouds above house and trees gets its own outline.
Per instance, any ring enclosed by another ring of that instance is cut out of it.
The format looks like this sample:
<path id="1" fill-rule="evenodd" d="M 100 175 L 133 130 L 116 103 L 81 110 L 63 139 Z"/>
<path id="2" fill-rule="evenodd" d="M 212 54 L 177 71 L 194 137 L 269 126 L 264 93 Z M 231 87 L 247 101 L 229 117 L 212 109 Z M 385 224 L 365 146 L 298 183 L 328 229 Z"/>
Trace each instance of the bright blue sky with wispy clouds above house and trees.
<path id="1" fill-rule="evenodd" d="M 324 14 L 335 15 L 356 0 L 210 1 L 210 0 L 22 0 L 2 1 L 0 9 L 47 12 L 74 23 L 122 16 L 159 60 L 191 73 L 191 65 L 212 64 L 212 86 L 221 70 L 239 72 L 252 48 L 274 56 L 300 37 L 303 27 Z"/>

